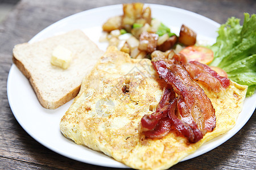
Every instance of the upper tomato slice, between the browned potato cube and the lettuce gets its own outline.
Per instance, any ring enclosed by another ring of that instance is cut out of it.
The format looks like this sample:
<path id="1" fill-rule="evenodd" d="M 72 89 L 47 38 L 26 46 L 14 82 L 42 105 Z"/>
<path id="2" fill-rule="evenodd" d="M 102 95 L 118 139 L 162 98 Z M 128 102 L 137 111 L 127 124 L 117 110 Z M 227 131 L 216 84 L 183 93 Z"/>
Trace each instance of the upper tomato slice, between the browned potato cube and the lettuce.
<path id="1" fill-rule="evenodd" d="M 198 61 L 208 65 L 213 61 L 213 51 L 203 46 L 187 46 L 180 51 L 188 61 Z"/>

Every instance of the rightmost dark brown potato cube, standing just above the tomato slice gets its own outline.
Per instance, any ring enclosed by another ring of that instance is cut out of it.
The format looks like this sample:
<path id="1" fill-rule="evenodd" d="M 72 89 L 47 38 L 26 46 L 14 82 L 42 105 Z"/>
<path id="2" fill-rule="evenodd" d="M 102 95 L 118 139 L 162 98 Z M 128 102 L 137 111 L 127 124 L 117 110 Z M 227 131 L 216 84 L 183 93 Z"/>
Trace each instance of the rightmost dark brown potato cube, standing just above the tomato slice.
<path id="1" fill-rule="evenodd" d="M 179 42 L 185 46 L 196 44 L 196 33 L 184 24 L 181 25 Z"/>

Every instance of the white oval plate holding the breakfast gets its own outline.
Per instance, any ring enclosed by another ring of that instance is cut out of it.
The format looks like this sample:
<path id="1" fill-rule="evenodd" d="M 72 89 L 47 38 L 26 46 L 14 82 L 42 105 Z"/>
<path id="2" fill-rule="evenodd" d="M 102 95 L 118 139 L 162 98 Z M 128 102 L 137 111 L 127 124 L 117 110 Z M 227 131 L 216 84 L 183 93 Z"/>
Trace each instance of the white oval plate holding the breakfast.
<path id="1" fill-rule="evenodd" d="M 213 43 L 216 39 L 216 30 L 220 24 L 213 20 L 180 8 L 152 4 L 147 4 L 146 6 L 151 7 L 153 18 L 157 18 L 171 27 L 171 31 L 175 33 L 179 32 L 181 24 L 184 23 L 197 32 L 199 40 Z M 106 6 L 83 11 L 50 25 L 32 38 L 30 42 L 39 41 L 46 37 L 73 29 L 82 29 L 91 40 L 96 42 L 101 49 L 105 50 L 106 44 L 98 42 L 101 35 L 101 25 L 111 16 L 121 14 L 122 5 Z M 7 80 L 7 95 L 16 120 L 32 138 L 42 145 L 80 162 L 105 167 L 126 168 L 126 165 L 115 161 L 101 152 L 76 145 L 73 141 L 65 138 L 60 133 L 59 123 L 72 101 L 55 110 L 43 108 L 39 104 L 30 83 L 15 65 L 11 66 Z M 245 125 L 251 114 L 253 114 L 255 107 L 256 94 L 246 98 L 243 110 L 237 118 L 237 124 L 232 130 L 205 143 L 196 152 L 183 160 L 195 158 L 227 141 Z"/>

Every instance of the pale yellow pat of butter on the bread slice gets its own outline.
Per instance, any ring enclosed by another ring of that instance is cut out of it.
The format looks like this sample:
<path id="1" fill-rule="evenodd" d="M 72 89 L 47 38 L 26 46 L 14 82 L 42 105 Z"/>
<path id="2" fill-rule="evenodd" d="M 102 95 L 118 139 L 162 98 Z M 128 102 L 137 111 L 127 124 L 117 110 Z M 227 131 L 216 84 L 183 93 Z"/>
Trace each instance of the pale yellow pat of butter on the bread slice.
<path id="1" fill-rule="evenodd" d="M 72 52 L 63 46 L 58 45 L 52 52 L 51 63 L 52 65 L 67 69 L 71 63 Z"/>

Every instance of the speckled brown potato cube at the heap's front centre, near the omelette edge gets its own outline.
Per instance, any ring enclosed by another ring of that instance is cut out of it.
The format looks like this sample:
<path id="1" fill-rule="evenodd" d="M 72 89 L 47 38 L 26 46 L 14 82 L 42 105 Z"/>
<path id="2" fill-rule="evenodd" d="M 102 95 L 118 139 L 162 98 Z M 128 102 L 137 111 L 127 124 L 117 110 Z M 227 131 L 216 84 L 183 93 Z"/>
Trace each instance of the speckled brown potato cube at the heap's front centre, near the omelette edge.
<path id="1" fill-rule="evenodd" d="M 158 35 L 155 33 L 142 32 L 141 36 L 139 36 L 139 50 L 152 53 L 156 50 L 157 43 Z"/>

